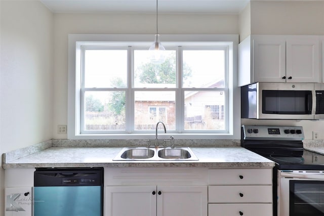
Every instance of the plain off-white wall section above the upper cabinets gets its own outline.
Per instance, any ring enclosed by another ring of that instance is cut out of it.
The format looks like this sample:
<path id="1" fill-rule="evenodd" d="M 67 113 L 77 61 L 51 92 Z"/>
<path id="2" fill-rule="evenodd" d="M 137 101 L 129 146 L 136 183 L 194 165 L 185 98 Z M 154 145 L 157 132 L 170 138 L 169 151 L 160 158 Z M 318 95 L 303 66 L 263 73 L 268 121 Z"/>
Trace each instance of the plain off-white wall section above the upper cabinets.
<path id="1" fill-rule="evenodd" d="M 324 1 L 251 1 L 251 34 L 324 34 Z"/>

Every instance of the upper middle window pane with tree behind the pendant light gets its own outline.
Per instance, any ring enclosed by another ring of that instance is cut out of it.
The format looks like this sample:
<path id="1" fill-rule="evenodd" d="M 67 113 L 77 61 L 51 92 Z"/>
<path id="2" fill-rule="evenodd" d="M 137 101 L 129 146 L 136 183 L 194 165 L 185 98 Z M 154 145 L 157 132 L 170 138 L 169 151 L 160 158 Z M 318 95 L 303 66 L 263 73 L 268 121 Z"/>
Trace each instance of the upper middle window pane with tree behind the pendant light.
<path id="1" fill-rule="evenodd" d="M 150 62 L 151 52 L 134 51 L 135 88 L 175 88 L 176 87 L 176 51 L 164 51 L 166 61 L 163 64 Z"/>

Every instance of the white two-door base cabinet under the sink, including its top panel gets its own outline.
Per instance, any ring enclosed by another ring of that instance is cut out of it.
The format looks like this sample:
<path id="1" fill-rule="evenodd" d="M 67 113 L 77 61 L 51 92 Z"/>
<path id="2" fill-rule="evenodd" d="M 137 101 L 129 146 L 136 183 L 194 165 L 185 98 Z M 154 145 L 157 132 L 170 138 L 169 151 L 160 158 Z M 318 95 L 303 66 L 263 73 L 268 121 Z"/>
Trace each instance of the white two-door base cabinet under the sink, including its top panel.
<path id="1" fill-rule="evenodd" d="M 207 216 L 207 168 L 105 168 L 105 216 Z"/>

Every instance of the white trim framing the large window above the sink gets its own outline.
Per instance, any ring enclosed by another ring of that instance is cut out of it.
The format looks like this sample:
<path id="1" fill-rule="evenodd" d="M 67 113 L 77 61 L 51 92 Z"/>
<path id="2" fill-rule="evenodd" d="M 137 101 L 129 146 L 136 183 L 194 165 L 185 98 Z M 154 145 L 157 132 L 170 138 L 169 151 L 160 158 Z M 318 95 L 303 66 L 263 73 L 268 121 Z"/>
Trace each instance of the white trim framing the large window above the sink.
<path id="1" fill-rule="evenodd" d="M 76 90 L 76 83 L 80 83 L 78 77 L 75 78 L 75 71 L 79 70 L 80 65 L 76 65 L 76 56 L 80 55 L 80 50 L 76 50 L 77 42 L 93 41 L 94 45 L 97 42 L 112 41 L 123 42 L 124 41 L 136 41 L 143 42 L 144 46 L 150 45 L 153 41 L 153 35 L 151 34 L 69 34 L 68 36 L 68 116 L 67 116 L 67 138 L 68 139 L 154 139 L 155 134 L 80 134 L 79 132 L 79 118 L 80 113 L 76 107 L 79 107 L 80 98 L 79 92 Z M 179 46 L 179 43 L 183 45 L 195 45 L 194 42 L 232 42 L 232 49 L 229 52 L 229 60 L 233 62 L 229 65 L 228 73 L 228 88 L 232 89 L 228 97 L 228 103 L 232 106 L 228 106 L 228 118 L 229 118 L 229 131 L 226 134 L 159 134 L 161 138 L 168 138 L 173 135 L 175 139 L 240 139 L 240 89 L 237 87 L 237 47 L 238 47 L 238 35 L 237 34 L 164 34 L 161 38 L 163 44 Z M 188 41 L 188 42 L 187 42 Z M 131 46 L 132 42 L 129 42 Z M 227 93 L 226 93 L 227 94 Z M 133 107 L 134 108 L 134 107 Z M 131 111 L 132 107 L 129 107 Z M 176 110 L 184 111 L 184 110 Z M 168 132 L 168 128 L 167 128 Z"/>

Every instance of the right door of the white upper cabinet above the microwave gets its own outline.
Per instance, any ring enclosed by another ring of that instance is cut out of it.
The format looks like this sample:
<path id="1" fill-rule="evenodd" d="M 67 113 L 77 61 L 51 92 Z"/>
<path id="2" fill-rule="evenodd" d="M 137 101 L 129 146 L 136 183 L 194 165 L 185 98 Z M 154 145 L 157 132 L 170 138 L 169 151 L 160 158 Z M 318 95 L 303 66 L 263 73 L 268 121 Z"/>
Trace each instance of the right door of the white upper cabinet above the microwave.
<path id="1" fill-rule="evenodd" d="M 287 82 L 320 82 L 319 40 L 287 40 Z"/>

